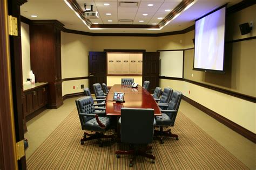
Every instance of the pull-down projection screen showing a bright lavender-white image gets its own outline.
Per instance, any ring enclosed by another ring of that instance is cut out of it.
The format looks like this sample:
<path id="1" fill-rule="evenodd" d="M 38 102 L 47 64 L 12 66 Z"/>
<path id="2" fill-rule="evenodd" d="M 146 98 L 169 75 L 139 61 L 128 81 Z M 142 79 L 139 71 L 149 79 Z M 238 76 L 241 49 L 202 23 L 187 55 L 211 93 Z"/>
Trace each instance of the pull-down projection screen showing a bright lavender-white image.
<path id="1" fill-rule="evenodd" d="M 194 70 L 224 72 L 226 6 L 196 20 Z"/>

